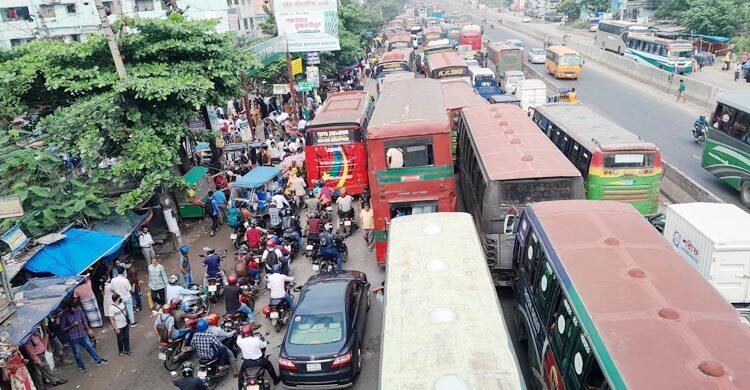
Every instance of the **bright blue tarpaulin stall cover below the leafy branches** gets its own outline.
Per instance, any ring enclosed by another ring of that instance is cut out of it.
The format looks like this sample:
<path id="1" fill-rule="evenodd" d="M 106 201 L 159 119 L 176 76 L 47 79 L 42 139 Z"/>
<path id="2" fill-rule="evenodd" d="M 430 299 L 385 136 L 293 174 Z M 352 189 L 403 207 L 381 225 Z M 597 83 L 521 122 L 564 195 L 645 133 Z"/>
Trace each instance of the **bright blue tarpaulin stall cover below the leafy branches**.
<path id="1" fill-rule="evenodd" d="M 65 238 L 44 247 L 26 263 L 26 269 L 57 276 L 78 275 L 99 259 L 117 252 L 125 242 L 114 236 L 90 230 L 68 229 Z"/>

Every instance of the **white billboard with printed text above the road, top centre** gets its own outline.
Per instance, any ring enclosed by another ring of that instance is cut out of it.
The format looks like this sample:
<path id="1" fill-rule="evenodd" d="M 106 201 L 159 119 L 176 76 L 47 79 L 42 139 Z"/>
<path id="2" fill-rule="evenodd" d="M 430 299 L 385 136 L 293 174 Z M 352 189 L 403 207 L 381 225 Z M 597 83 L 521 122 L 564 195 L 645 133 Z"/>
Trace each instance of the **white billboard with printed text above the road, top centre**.
<path id="1" fill-rule="evenodd" d="M 290 53 L 339 50 L 337 0 L 274 0 L 279 35 Z"/>

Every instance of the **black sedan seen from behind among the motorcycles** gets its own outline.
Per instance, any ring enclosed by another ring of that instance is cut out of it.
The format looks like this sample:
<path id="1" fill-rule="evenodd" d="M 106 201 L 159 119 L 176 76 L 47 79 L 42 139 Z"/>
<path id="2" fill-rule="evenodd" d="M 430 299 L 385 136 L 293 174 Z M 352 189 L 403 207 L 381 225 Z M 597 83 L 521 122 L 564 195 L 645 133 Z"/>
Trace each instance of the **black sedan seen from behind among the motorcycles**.
<path id="1" fill-rule="evenodd" d="M 358 271 L 321 273 L 305 283 L 279 352 L 285 386 L 352 385 L 362 369 L 369 287 Z"/>

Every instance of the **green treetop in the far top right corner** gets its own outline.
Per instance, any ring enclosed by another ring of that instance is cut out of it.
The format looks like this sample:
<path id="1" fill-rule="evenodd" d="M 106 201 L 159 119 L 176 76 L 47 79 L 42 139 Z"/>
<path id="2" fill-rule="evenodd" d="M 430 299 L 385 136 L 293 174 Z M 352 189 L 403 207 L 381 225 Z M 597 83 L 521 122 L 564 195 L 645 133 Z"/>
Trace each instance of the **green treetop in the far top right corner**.
<path id="1" fill-rule="evenodd" d="M 679 22 L 695 34 L 734 36 L 742 25 L 742 13 L 731 0 L 689 0 Z"/>

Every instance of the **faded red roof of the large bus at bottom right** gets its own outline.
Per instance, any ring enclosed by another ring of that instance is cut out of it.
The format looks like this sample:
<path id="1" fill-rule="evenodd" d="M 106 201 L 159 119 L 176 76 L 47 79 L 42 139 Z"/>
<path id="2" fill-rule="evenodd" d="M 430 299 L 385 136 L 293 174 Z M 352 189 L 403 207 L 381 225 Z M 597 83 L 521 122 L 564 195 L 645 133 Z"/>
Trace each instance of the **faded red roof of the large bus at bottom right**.
<path id="1" fill-rule="evenodd" d="M 633 206 L 564 200 L 527 210 L 579 320 L 593 325 L 602 369 L 617 368 L 614 382 L 750 388 L 750 327 Z"/>

